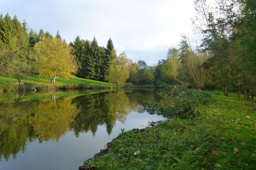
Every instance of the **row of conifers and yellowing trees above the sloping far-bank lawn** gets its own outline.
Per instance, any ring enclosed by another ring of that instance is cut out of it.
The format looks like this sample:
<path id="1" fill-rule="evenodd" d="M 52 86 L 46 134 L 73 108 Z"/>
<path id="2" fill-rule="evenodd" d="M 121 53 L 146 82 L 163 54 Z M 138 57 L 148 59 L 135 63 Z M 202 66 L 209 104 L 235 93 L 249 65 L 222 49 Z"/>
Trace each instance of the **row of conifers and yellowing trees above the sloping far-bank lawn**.
<path id="1" fill-rule="evenodd" d="M 17 16 L 0 15 L 0 72 L 1 75 L 15 77 L 19 82 L 28 75 L 49 76 L 54 83 L 57 76 L 77 77 L 124 84 L 127 72 L 126 54 L 116 54 L 109 38 L 107 47 L 77 36 L 69 45 L 59 31 L 52 36 L 42 29 L 37 34 L 28 31 L 25 20 L 21 23 Z"/>

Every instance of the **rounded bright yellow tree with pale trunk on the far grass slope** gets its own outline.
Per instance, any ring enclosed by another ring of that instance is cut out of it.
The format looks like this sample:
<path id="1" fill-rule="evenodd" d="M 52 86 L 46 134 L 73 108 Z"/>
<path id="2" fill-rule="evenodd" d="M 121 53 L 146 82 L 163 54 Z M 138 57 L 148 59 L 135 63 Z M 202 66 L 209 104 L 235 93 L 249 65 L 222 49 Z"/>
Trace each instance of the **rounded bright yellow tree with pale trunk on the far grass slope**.
<path id="1" fill-rule="evenodd" d="M 71 47 L 58 38 L 44 38 L 33 50 L 39 74 L 51 76 L 50 82 L 54 83 L 57 76 L 68 79 L 77 70 L 75 56 L 70 54 Z"/>

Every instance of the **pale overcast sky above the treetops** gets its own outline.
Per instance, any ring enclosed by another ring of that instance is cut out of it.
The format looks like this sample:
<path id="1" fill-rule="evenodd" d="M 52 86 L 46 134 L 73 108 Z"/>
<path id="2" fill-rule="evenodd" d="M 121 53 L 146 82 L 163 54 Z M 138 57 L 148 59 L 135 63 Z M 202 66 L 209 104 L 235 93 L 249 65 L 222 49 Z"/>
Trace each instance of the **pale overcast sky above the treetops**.
<path id="1" fill-rule="evenodd" d="M 148 65 L 165 59 L 168 48 L 177 47 L 182 33 L 191 35 L 193 0 L 0 0 L 3 15 L 14 14 L 28 27 L 59 30 L 69 43 L 76 36 L 106 47 L 109 37 L 117 53 L 126 52 Z"/>

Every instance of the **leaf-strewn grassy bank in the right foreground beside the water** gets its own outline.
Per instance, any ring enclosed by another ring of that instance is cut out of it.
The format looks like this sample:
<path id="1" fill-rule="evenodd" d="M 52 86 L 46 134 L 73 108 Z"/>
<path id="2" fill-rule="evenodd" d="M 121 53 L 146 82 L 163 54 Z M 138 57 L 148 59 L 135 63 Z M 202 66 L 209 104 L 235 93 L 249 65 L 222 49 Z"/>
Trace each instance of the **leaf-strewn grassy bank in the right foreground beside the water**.
<path id="1" fill-rule="evenodd" d="M 123 132 L 107 154 L 85 164 L 91 169 L 256 169 L 253 105 L 214 92 L 209 104 L 197 107 L 201 116 Z"/>

